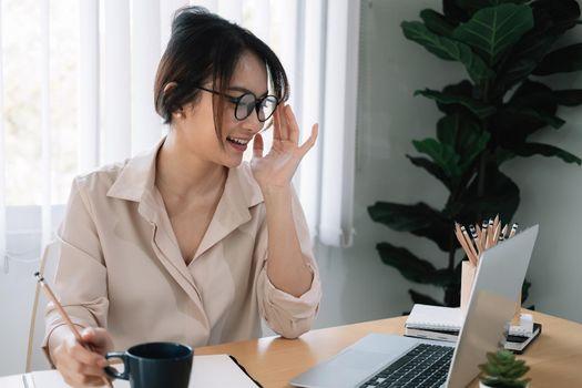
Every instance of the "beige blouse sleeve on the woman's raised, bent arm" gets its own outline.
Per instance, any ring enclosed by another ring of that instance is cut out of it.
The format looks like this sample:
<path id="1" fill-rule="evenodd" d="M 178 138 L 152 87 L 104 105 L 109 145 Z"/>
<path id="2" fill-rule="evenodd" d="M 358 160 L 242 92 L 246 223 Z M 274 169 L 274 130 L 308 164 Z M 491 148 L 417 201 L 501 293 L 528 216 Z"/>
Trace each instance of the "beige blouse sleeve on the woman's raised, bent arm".
<path id="1" fill-rule="evenodd" d="M 321 299 L 319 270 L 312 251 L 309 229 L 295 192 L 293 193 L 292 211 L 305 264 L 313 273 L 312 287 L 305 294 L 295 297 L 277 289 L 270 283 L 267 276 L 268 257 L 266 221 L 263 223 L 263 227 L 257 236 L 257 254 L 259 254 L 263 259 L 257 284 L 258 308 L 267 325 L 275 333 L 286 338 L 297 338 L 312 328 Z"/>

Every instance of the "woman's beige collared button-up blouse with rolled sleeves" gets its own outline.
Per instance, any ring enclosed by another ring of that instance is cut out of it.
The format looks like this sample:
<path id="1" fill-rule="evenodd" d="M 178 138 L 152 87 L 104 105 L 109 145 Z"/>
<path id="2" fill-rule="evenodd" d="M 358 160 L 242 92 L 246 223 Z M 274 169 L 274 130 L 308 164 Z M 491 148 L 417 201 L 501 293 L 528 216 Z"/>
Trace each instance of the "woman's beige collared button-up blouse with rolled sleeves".
<path id="1" fill-rule="evenodd" d="M 186 265 L 154 185 L 162 143 L 74 180 L 58 234 L 53 286 L 72 320 L 106 328 L 116 350 L 154 340 L 196 347 L 255 338 L 261 317 L 284 337 L 309 330 L 321 289 L 297 197 L 293 214 L 314 273 L 300 297 L 268 279 L 265 203 L 247 163 L 229 169 L 216 212 Z M 45 318 L 44 347 L 64 324 L 51 304 Z"/>

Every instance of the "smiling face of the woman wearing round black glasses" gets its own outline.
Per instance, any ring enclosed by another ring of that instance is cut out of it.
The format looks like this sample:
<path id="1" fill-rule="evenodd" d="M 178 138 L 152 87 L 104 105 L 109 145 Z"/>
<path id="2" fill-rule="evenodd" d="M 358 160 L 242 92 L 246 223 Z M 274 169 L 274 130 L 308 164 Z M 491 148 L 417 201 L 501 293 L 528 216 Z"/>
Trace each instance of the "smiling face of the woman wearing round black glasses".
<path id="1" fill-rule="evenodd" d="M 202 86 L 217 89 L 211 83 Z M 247 52 L 238 60 L 226 93 L 238 98 L 248 92 L 257 99 L 267 94 L 267 72 L 265 63 Z M 222 139 L 218 139 L 213 119 L 213 93 L 201 90 L 198 101 L 184 106 L 183 116 L 176 120 L 176 129 L 182 132 L 181 142 L 185 143 L 183 145 L 196 157 L 234 167 L 243 161 L 244 151 L 253 136 L 263 129 L 263 123 L 258 121 L 256 111 L 244 120 L 237 120 L 236 105 L 225 99 Z"/>

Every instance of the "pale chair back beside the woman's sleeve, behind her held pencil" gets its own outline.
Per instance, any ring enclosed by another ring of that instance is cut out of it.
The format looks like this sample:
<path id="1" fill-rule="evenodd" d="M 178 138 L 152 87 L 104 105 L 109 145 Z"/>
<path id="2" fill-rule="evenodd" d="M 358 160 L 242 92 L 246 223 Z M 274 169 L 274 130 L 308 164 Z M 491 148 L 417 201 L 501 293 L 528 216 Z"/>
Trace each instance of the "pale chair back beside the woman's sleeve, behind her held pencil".
<path id="1" fill-rule="evenodd" d="M 54 284 L 57 275 L 57 267 L 59 266 L 60 244 L 57 241 L 51 242 L 44 247 L 42 258 L 40 261 L 39 272 L 50 286 Z M 48 299 L 44 293 L 40 289 L 40 284 L 37 283 L 34 292 L 34 300 L 32 302 L 32 314 L 30 318 L 29 341 L 27 349 L 27 372 L 32 370 L 47 370 L 51 366 L 41 349 L 42 340 L 44 339 L 44 309 Z"/>

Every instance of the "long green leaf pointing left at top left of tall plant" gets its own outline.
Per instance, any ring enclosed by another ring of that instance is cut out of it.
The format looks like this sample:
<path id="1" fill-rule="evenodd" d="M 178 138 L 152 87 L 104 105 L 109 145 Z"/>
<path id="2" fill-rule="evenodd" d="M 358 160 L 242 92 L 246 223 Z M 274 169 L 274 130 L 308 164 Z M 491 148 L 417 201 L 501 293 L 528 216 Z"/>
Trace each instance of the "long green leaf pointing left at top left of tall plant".
<path id="1" fill-rule="evenodd" d="M 469 45 L 440 37 L 419 21 L 405 21 L 401 28 L 407 39 L 423 45 L 440 59 L 461 62 L 476 83 L 496 75 L 483 60 L 471 51 Z"/>

